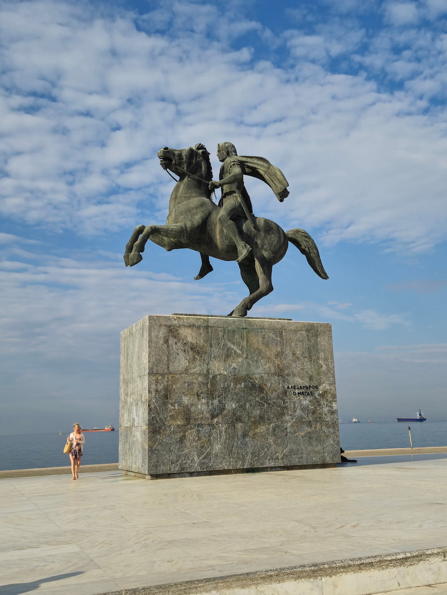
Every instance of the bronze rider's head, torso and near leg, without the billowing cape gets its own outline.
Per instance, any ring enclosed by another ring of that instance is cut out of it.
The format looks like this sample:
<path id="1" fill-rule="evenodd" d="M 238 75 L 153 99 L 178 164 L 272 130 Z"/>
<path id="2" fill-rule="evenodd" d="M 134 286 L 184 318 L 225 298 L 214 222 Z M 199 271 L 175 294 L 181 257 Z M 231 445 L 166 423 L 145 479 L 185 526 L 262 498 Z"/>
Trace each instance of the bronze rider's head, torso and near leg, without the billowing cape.
<path id="1" fill-rule="evenodd" d="M 240 237 L 235 219 L 252 215 L 250 197 L 243 184 L 242 167 L 237 160 L 237 152 L 233 143 L 224 142 L 217 145 L 217 158 L 222 163 L 219 181 L 210 181 L 210 190 L 222 189 L 219 201 L 220 212 L 217 216 L 218 228 L 226 230 L 236 244 L 237 262 L 242 262 L 251 253 L 251 246 Z M 245 205 L 245 209 L 243 208 Z"/>

